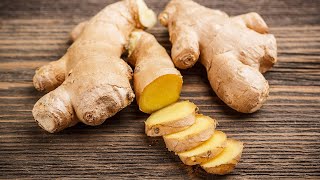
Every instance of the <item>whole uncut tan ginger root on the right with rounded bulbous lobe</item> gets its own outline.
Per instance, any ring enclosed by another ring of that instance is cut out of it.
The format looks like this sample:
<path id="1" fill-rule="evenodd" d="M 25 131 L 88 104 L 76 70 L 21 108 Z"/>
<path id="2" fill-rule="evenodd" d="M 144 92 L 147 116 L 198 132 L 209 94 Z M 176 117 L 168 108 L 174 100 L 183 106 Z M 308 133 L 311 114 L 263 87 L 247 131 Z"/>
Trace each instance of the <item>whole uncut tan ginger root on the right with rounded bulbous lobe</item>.
<path id="1" fill-rule="evenodd" d="M 260 109 L 269 94 L 261 73 L 277 61 L 276 39 L 260 15 L 228 17 L 191 0 L 171 0 L 159 19 L 168 27 L 178 68 L 192 67 L 201 56 L 220 99 L 239 112 Z"/>

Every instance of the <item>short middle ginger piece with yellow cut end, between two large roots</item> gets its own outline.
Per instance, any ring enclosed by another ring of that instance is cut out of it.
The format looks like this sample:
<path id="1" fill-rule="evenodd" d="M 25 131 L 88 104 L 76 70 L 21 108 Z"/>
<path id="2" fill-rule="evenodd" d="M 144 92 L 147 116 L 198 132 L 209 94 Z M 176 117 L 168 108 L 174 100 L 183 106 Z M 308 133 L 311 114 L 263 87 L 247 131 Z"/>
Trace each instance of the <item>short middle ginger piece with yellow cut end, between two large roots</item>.
<path id="1" fill-rule="evenodd" d="M 134 91 L 142 112 L 152 113 L 179 99 L 182 76 L 153 35 L 131 33 L 129 62 L 135 66 Z"/>

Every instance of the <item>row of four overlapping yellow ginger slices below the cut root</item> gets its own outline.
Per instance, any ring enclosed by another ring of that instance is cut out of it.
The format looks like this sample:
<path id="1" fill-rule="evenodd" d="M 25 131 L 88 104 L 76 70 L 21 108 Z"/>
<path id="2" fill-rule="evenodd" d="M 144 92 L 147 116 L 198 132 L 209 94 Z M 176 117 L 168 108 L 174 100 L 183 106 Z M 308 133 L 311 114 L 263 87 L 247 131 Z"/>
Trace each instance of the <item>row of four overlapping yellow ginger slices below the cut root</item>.
<path id="1" fill-rule="evenodd" d="M 216 120 L 197 114 L 197 109 L 189 101 L 167 106 L 146 120 L 146 134 L 163 136 L 168 150 L 186 165 L 199 164 L 212 174 L 232 172 L 241 158 L 243 143 L 215 130 Z"/>

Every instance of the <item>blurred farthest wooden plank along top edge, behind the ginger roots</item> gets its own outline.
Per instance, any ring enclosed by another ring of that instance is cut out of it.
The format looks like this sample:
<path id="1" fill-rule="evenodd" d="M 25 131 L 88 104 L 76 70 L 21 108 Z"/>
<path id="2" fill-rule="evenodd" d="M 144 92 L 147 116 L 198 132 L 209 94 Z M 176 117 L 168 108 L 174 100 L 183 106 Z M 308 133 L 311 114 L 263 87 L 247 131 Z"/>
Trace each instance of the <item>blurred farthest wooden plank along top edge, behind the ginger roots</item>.
<path id="1" fill-rule="evenodd" d="M 15 18 L 64 18 L 77 19 L 90 17 L 106 4 L 116 0 L 2 0 L 0 16 L 5 19 Z M 156 12 L 160 12 L 168 0 L 147 0 L 147 3 Z M 229 0 L 210 1 L 197 0 L 197 2 L 212 8 L 217 8 L 237 15 L 250 11 L 262 14 L 271 25 L 317 25 L 319 19 L 319 2 L 317 0 Z"/>

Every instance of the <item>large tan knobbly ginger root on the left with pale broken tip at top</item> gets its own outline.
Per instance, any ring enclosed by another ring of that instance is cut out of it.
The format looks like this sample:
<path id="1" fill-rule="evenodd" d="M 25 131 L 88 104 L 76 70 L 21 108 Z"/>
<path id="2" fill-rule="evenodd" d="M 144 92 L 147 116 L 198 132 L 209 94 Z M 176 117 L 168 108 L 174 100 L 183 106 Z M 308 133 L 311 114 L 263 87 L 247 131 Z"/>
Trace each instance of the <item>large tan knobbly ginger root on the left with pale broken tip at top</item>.
<path id="1" fill-rule="evenodd" d="M 35 88 L 52 90 L 32 110 L 43 129 L 58 132 L 79 121 L 99 125 L 133 101 L 132 70 L 120 57 L 130 33 L 155 22 L 143 19 L 142 10 L 142 0 L 105 7 L 74 29 L 75 42 L 61 59 L 36 71 Z"/>

